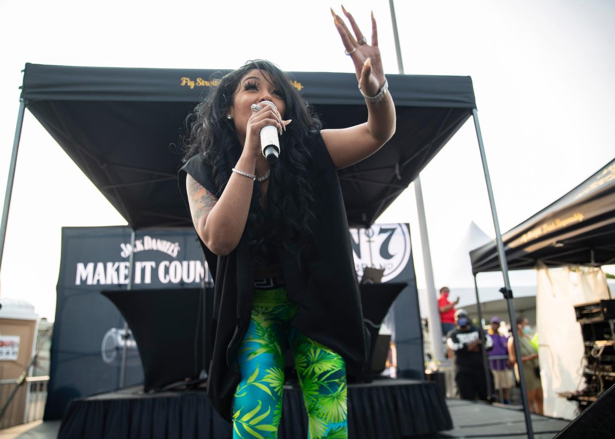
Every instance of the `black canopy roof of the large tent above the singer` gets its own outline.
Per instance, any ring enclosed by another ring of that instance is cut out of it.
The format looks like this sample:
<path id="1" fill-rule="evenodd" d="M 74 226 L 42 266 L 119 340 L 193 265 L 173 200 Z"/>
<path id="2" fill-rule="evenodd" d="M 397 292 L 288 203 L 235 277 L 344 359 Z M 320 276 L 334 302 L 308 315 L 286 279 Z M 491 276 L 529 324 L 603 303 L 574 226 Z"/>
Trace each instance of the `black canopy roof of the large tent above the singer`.
<path id="1" fill-rule="evenodd" d="M 215 72 L 28 63 L 22 98 L 131 227 L 189 226 L 177 191 L 177 144 Z M 290 75 L 325 128 L 367 119 L 354 74 Z M 376 154 L 339 171 L 351 226 L 372 224 L 476 108 L 467 76 L 387 79 L 397 132 Z"/>

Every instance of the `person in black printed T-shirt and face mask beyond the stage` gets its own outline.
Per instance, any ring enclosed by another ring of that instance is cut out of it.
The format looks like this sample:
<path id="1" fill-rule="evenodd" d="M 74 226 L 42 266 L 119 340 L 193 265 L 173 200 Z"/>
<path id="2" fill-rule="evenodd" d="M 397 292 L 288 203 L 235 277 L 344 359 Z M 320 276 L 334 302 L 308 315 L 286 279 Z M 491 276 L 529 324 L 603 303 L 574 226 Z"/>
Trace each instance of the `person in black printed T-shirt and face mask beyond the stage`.
<path id="1" fill-rule="evenodd" d="M 481 349 L 490 350 L 493 340 L 489 334 L 479 331 L 472 325 L 466 310 L 455 312 L 456 327 L 448 333 L 446 347 L 454 353 L 455 383 L 459 397 L 464 400 L 476 398 L 487 400 L 486 378 L 490 371 L 485 371 Z"/>

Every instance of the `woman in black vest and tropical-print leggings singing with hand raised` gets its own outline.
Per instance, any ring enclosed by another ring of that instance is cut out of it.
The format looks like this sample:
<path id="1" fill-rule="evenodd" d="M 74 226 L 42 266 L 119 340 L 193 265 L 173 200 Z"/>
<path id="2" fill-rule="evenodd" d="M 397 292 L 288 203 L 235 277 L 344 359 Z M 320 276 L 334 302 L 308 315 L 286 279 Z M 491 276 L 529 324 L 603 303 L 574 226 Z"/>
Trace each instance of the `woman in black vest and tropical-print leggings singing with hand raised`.
<path id="1" fill-rule="evenodd" d="M 179 176 L 215 280 L 207 391 L 236 438 L 277 437 L 287 347 L 309 437 L 346 438 L 346 365 L 358 375 L 367 361 L 336 170 L 391 138 L 395 108 L 373 15 L 370 45 L 351 14 L 344 10 L 354 35 L 331 13 L 354 62 L 367 122 L 321 130 L 287 74 L 261 60 L 222 77 L 192 114 Z M 260 142 L 267 125 L 280 135 L 271 167 Z"/>

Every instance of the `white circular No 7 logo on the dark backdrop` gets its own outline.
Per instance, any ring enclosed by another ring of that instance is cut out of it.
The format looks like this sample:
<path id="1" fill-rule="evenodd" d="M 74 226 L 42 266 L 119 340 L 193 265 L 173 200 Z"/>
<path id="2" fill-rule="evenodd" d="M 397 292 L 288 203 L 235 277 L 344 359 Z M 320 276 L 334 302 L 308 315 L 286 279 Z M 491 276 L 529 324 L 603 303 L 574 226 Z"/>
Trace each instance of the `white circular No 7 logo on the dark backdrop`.
<path id="1" fill-rule="evenodd" d="M 359 279 L 365 267 L 384 269 L 382 282 L 395 279 L 410 261 L 410 231 L 407 224 L 374 224 L 369 229 L 351 229 L 352 256 Z"/>

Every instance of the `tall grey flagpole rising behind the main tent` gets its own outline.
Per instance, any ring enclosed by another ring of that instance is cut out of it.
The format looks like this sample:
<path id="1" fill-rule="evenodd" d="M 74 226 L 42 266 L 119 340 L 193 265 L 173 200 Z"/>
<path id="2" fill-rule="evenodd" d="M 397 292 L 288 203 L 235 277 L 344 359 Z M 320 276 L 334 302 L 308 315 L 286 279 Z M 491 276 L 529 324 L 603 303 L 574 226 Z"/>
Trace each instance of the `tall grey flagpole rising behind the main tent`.
<path id="1" fill-rule="evenodd" d="M 395 40 L 395 53 L 397 53 L 397 68 L 399 74 L 403 73 L 402 49 L 399 44 L 399 33 L 397 32 L 397 18 L 395 18 L 395 5 L 393 0 L 389 0 L 391 9 L 391 22 L 393 25 L 393 38 Z M 416 212 L 419 218 L 419 230 L 421 231 L 421 250 L 423 251 L 423 266 L 425 270 L 425 282 L 427 286 L 427 309 L 429 310 L 429 344 L 431 346 L 432 360 L 444 360 L 444 349 L 442 347 L 442 325 L 440 325 L 440 309 L 435 296 L 434 269 L 431 263 L 431 250 L 429 249 L 429 236 L 427 235 L 427 219 L 425 217 L 425 206 L 423 204 L 423 190 L 421 189 L 421 177 L 417 176 L 415 183 Z"/>

